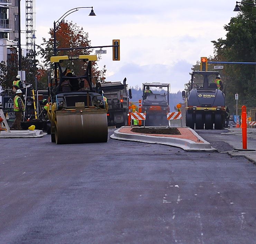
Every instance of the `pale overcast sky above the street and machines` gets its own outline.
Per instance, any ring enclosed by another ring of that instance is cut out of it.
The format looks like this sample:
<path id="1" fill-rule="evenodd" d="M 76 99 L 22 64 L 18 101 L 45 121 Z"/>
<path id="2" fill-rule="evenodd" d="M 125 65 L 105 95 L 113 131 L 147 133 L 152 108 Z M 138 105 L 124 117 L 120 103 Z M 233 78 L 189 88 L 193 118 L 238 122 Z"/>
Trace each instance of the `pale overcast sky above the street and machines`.
<path id="1" fill-rule="evenodd" d="M 213 54 L 212 40 L 225 38 L 223 26 L 233 12 L 235 0 L 36 0 L 36 41 L 48 37 L 49 28 L 67 10 L 93 6 L 70 14 L 89 33 L 93 46 L 112 45 L 120 39 L 121 61 L 112 61 L 106 48 L 99 66 L 107 68 L 107 81 L 127 78 L 130 86 L 142 82 L 169 82 L 171 91 L 182 90 L 191 67 L 201 56 Z M 25 30 L 25 0 L 21 0 L 22 30 Z M 22 35 L 22 44 L 26 43 Z"/>

